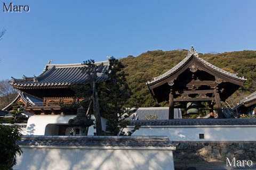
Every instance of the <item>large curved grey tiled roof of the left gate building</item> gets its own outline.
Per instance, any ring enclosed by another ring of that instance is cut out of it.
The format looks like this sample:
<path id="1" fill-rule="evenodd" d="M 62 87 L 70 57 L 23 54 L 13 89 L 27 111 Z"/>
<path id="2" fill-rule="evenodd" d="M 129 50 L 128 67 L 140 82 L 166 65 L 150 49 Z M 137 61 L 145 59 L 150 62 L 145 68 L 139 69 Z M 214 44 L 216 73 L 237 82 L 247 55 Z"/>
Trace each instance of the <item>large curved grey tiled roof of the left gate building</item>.
<path id="1" fill-rule="evenodd" d="M 95 62 L 94 64 L 100 66 L 96 81 L 106 81 L 107 77 L 103 75 L 103 73 L 108 70 L 109 62 Z M 23 79 L 12 78 L 10 83 L 12 86 L 18 88 L 63 87 L 74 84 L 84 84 L 88 75 L 82 72 L 80 69 L 82 66 L 82 64 L 47 64 L 43 73 L 38 77 L 23 76 Z"/>

